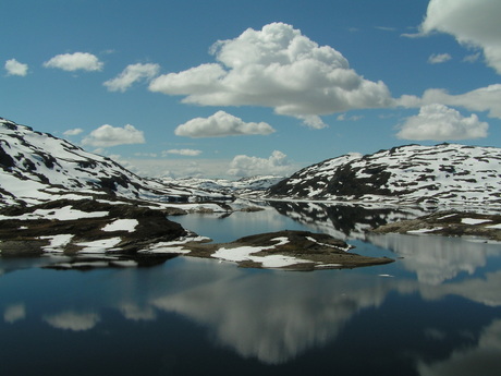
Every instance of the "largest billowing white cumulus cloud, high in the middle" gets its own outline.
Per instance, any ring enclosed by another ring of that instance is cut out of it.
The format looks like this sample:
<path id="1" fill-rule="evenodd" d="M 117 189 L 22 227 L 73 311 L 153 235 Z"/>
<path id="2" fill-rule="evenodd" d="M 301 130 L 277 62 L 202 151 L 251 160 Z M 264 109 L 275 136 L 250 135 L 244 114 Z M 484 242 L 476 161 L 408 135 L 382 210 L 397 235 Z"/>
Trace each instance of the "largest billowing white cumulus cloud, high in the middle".
<path id="1" fill-rule="evenodd" d="M 384 83 L 365 80 L 335 49 L 283 23 L 220 40 L 211 53 L 216 63 L 161 75 L 149 89 L 201 106 L 271 107 L 311 128 L 326 126 L 322 114 L 392 104 Z"/>

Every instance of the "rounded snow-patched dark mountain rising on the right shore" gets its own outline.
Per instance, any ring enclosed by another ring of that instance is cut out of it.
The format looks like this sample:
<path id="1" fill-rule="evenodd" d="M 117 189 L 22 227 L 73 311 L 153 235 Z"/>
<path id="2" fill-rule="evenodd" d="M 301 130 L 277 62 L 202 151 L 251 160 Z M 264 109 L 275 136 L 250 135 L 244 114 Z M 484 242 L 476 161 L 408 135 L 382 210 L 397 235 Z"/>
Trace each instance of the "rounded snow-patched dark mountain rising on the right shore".
<path id="1" fill-rule="evenodd" d="M 501 207 L 501 149 L 407 145 L 307 167 L 268 197 Z"/>

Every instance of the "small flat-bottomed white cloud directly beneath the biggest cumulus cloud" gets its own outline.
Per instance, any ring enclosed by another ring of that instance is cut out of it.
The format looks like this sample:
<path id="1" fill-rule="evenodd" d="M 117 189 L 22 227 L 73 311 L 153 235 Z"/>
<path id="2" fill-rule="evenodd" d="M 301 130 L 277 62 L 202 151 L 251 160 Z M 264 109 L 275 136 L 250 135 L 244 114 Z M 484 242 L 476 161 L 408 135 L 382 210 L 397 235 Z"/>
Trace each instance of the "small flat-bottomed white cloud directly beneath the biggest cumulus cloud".
<path id="1" fill-rule="evenodd" d="M 268 123 L 246 123 L 224 111 L 218 111 L 208 118 L 195 118 L 179 125 L 174 133 L 178 136 L 192 138 L 224 137 L 249 134 L 270 134 L 274 130 Z"/>

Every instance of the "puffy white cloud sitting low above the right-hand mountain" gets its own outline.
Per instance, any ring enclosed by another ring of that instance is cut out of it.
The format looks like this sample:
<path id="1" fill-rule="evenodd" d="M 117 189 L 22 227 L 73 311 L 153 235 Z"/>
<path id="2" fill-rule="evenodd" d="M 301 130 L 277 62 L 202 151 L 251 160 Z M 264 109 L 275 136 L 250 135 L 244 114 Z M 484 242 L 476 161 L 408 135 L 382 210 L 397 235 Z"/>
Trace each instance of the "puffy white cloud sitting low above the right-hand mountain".
<path id="1" fill-rule="evenodd" d="M 465 118 L 452 108 L 433 104 L 421 107 L 419 114 L 407 118 L 396 136 L 416 141 L 472 140 L 486 137 L 488 128 L 476 114 Z"/>

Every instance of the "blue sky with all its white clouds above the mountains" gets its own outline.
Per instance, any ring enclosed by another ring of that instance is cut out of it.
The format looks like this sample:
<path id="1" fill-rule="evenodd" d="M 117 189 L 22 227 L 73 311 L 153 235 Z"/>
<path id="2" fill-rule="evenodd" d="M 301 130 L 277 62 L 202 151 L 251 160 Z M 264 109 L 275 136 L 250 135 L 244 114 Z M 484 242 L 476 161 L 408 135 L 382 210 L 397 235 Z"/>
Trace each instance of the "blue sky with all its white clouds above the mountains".
<path id="1" fill-rule="evenodd" d="M 0 117 L 144 177 L 501 147 L 499 0 L 3 0 Z"/>

